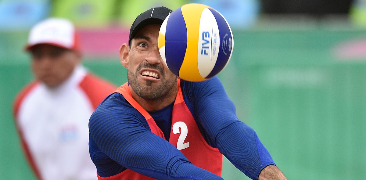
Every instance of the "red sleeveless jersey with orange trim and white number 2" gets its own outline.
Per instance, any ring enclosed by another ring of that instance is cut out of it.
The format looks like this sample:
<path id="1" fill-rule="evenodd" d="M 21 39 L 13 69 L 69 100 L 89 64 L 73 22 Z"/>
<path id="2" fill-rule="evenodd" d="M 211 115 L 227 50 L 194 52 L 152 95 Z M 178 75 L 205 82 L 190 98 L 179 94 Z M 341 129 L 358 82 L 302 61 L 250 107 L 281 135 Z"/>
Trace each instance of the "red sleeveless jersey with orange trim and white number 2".
<path id="1" fill-rule="evenodd" d="M 151 132 L 164 138 L 163 132 L 156 125 L 154 119 L 149 113 L 142 108 L 132 98 L 130 87 L 128 83 L 125 83 L 119 87 L 116 92 L 123 95 L 124 98 L 137 109 L 146 119 L 149 124 Z M 223 155 L 218 149 L 211 147 L 205 141 L 201 132 L 198 129 L 197 123 L 194 120 L 190 110 L 183 100 L 182 90 L 180 89 L 180 80 L 178 79 L 178 93 L 173 105 L 172 112 L 172 127 L 169 137 L 169 142 L 177 147 L 187 159 L 195 166 L 206 169 L 216 175 L 221 176 Z M 141 175 L 130 169 L 126 169 L 123 172 L 110 176 L 100 177 L 99 180 L 154 180 L 151 177 Z"/>

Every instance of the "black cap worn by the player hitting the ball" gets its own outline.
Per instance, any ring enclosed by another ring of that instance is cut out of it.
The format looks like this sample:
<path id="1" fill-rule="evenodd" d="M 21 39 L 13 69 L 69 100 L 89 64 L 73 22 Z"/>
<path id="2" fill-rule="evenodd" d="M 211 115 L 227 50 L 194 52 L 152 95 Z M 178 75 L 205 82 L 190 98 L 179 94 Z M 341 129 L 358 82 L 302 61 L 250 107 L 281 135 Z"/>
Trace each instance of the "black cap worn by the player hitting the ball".
<path id="1" fill-rule="evenodd" d="M 128 45 L 130 45 L 131 39 L 136 33 L 146 25 L 163 24 L 163 21 L 172 12 L 172 10 L 166 7 L 156 7 L 147 10 L 137 16 L 134 23 L 132 23 L 130 29 L 130 37 L 128 38 Z"/>

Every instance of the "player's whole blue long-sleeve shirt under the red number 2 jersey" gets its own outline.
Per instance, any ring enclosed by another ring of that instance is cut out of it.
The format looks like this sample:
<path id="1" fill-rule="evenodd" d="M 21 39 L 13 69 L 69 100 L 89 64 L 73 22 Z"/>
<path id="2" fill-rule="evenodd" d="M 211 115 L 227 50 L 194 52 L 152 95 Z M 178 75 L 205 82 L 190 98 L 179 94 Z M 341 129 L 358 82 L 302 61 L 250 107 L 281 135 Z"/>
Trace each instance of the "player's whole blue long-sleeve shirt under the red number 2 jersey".
<path id="1" fill-rule="evenodd" d="M 181 80 L 184 101 L 210 146 L 251 179 L 275 164 L 255 131 L 238 120 L 235 106 L 219 78 L 203 82 Z M 169 137 L 172 107 L 149 112 Z M 143 115 L 119 93 L 109 95 L 89 121 L 90 156 L 101 177 L 126 168 L 156 179 L 222 179 L 191 164 L 176 147 L 150 131 Z"/>

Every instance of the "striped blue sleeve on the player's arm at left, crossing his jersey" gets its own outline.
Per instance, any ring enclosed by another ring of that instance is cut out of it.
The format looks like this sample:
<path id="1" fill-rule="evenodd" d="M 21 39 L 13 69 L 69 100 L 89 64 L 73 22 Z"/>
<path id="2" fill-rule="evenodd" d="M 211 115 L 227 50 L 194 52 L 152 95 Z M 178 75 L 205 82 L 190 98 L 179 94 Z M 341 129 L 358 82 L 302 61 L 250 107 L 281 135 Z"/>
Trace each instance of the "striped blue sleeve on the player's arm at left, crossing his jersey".
<path id="1" fill-rule="evenodd" d="M 98 106 L 89 131 L 90 156 L 101 177 L 128 168 L 155 179 L 222 180 L 194 166 L 171 143 L 153 134 L 141 113 L 119 93 Z"/>

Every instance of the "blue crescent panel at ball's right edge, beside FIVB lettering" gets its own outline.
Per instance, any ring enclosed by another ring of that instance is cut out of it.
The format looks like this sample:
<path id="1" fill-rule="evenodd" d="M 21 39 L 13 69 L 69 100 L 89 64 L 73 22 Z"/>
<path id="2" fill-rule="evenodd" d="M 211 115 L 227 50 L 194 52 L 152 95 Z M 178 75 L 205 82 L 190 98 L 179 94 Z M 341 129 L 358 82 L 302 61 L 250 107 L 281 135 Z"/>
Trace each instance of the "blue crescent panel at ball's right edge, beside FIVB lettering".
<path id="1" fill-rule="evenodd" d="M 220 32 L 220 50 L 217 55 L 217 61 L 212 71 L 206 78 L 212 78 L 217 75 L 226 65 L 229 60 L 230 54 L 232 52 L 232 34 L 230 32 L 229 26 L 226 23 L 223 16 L 221 16 L 217 11 L 210 9 L 213 16 L 216 19 L 217 26 L 219 27 Z"/>

